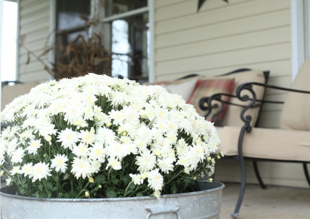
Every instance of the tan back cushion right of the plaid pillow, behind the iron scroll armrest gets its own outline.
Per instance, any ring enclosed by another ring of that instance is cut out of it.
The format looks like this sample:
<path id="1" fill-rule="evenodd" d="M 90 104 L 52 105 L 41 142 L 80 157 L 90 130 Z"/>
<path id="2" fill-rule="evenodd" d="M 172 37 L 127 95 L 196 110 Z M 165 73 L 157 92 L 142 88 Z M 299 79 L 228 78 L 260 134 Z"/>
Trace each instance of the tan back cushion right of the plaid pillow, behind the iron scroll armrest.
<path id="1" fill-rule="evenodd" d="M 232 89 L 232 94 L 236 95 L 236 90 L 237 87 L 245 82 L 258 82 L 258 83 L 265 83 L 265 77 L 263 71 L 259 70 L 252 70 L 252 71 L 244 71 L 244 72 L 238 72 L 238 73 L 233 73 L 230 75 L 225 75 L 225 76 L 220 76 L 216 77 L 217 79 L 226 79 L 226 78 L 234 78 L 235 79 L 235 84 Z M 257 99 L 262 99 L 264 95 L 265 88 L 261 86 L 253 86 L 253 90 L 255 91 L 256 98 Z M 248 94 L 250 98 L 252 98 L 252 94 L 244 90 L 241 92 L 241 95 Z M 238 100 L 237 98 L 230 98 L 229 102 L 231 103 L 236 103 L 236 104 L 242 104 L 242 105 L 247 105 L 250 103 L 250 101 L 243 102 L 241 100 Z M 243 126 L 244 122 L 240 118 L 240 113 L 242 111 L 243 107 L 238 107 L 238 106 L 233 106 L 229 105 L 227 107 L 226 114 L 221 122 L 221 126 Z M 248 109 L 245 113 L 245 116 L 250 115 L 252 116 L 252 120 L 250 122 L 250 125 L 254 126 L 257 119 L 258 119 L 258 114 L 259 114 L 259 107 L 255 107 L 252 109 Z"/>

